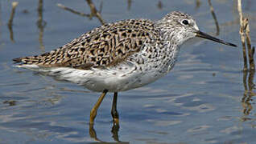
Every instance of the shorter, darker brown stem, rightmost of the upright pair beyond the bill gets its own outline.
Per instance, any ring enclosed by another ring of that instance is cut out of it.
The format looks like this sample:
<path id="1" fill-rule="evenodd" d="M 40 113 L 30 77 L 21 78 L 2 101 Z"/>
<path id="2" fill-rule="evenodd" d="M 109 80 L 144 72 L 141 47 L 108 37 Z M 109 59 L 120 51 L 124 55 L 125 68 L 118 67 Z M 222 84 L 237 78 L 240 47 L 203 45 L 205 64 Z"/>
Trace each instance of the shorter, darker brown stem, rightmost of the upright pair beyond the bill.
<path id="1" fill-rule="evenodd" d="M 245 18 L 243 22 L 244 22 L 244 26 L 245 26 L 244 29 L 246 30 L 246 44 L 247 44 L 247 49 L 248 49 L 250 70 L 255 70 L 254 54 L 253 54 L 253 50 L 251 48 L 251 43 L 250 43 L 250 26 L 249 26 L 248 18 Z"/>

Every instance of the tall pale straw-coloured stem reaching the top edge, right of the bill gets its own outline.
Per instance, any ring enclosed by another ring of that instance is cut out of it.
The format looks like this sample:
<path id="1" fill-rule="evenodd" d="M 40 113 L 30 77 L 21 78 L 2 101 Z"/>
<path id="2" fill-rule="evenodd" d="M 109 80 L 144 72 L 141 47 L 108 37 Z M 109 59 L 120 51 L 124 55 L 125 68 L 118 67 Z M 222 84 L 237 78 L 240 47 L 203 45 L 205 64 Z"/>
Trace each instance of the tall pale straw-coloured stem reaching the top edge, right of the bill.
<path id="1" fill-rule="evenodd" d="M 240 31 L 239 31 L 239 34 L 241 36 L 241 41 L 242 41 L 242 54 L 243 54 L 243 57 L 244 57 L 244 70 L 248 70 L 247 55 L 246 55 L 246 38 L 245 38 L 244 24 L 243 24 L 243 18 L 242 18 L 241 0 L 237 0 L 237 10 L 238 10 L 239 17 L 240 17 Z"/>

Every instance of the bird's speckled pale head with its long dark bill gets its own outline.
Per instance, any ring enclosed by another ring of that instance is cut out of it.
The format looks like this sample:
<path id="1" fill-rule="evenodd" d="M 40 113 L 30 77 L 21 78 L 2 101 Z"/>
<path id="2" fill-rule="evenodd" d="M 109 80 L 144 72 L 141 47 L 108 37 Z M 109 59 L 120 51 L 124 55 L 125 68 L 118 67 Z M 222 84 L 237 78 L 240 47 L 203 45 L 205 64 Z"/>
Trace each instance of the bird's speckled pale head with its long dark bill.
<path id="1" fill-rule="evenodd" d="M 192 16 L 179 11 L 174 11 L 164 16 L 157 22 L 157 26 L 159 26 L 163 38 L 166 38 L 171 43 L 177 45 L 183 44 L 189 38 L 199 37 L 209 39 L 214 42 L 220 42 L 228 46 L 236 46 L 232 43 L 225 42 L 201 32 Z"/>

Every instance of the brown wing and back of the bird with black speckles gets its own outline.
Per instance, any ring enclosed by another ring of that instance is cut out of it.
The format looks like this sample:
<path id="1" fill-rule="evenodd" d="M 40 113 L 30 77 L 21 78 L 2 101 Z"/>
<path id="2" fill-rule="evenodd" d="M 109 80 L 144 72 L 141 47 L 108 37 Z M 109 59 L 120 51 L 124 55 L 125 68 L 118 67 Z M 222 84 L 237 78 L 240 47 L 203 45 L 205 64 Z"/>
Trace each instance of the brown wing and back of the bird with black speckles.
<path id="1" fill-rule="evenodd" d="M 113 66 L 155 38 L 159 38 L 159 34 L 153 22 L 131 19 L 100 26 L 48 53 L 15 58 L 14 61 L 43 67 L 69 66 L 84 70 L 92 66 Z"/>

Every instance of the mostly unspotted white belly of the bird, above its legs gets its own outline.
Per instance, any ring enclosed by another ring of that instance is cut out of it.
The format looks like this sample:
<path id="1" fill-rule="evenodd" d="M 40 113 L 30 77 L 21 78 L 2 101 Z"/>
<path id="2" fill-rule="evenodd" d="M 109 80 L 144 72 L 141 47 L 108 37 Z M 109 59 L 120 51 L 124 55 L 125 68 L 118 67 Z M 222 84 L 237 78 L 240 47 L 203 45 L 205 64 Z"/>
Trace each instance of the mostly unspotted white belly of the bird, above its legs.
<path id="1" fill-rule="evenodd" d="M 21 65 L 18 67 L 36 70 L 44 74 L 55 76 L 61 80 L 77 83 L 89 90 L 102 92 L 118 92 L 145 86 L 162 77 L 157 70 L 143 70 L 139 66 L 122 64 L 108 69 L 93 68 L 78 70 L 68 67 L 39 68 L 36 65 Z M 120 68 L 122 67 L 122 70 Z"/>

